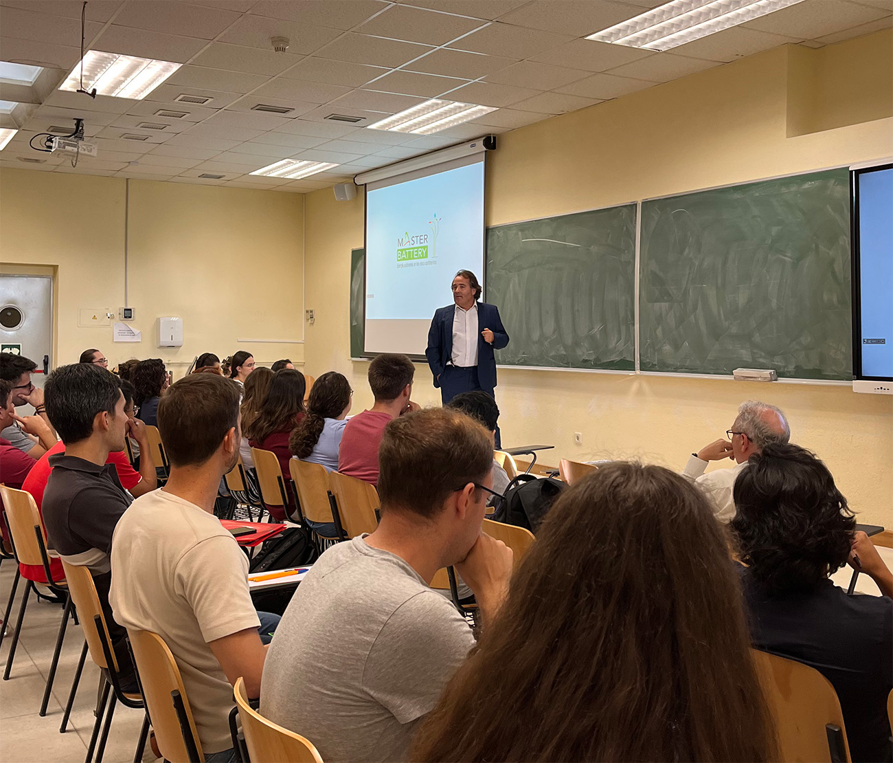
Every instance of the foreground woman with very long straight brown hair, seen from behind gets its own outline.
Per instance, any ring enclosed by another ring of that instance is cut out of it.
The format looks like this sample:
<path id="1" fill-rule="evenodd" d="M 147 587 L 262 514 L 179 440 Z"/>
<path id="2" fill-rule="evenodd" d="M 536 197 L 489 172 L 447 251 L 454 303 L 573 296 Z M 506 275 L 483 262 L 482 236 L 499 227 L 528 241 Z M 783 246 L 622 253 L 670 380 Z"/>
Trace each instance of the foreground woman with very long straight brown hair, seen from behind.
<path id="1" fill-rule="evenodd" d="M 705 497 L 606 465 L 555 501 L 410 759 L 772 760 L 749 646 Z"/>

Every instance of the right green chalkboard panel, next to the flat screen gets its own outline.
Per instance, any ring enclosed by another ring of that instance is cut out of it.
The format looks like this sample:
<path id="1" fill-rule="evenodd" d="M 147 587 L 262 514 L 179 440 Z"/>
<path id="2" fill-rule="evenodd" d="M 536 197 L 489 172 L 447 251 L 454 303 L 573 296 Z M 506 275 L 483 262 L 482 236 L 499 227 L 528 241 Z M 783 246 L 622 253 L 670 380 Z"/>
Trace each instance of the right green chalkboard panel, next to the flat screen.
<path id="1" fill-rule="evenodd" d="M 852 379 L 846 169 L 642 203 L 639 367 Z"/>

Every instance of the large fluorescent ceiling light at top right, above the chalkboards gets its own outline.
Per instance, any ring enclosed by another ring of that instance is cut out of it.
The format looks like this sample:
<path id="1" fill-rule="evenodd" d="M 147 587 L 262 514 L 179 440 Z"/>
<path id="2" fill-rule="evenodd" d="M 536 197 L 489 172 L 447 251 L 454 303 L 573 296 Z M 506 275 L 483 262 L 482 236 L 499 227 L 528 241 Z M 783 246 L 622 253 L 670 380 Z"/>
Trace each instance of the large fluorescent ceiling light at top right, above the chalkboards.
<path id="1" fill-rule="evenodd" d="M 803 0 L 672 0 L 587 39 L 647 50 L 670 50 L 753 21 Z"/>

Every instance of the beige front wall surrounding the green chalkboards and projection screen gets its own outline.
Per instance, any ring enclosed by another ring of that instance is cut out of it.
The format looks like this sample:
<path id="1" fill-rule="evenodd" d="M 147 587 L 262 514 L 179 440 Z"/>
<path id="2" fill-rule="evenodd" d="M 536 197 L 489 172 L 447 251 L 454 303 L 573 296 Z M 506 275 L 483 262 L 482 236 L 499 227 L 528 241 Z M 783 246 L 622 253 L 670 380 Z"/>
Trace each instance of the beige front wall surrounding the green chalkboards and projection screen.
<path id="1" fill-rule="evenodd" d="M 789 138 L 789 99 L 798 97 L 789 74 L 799 51 L 779 48 L 500 136 L 488 155 L 488 225 L 893 155 L 893 120 L 873 118 L 889 113 L 891 36 L 843 46 L 813 56 L 822 98 L 811 108 L 830 112 L 837 88 L 852 112 L 873 121 Z M 836 60 L 862 78 L 858 103 L 844 78 L 828 74 Z M 876 71 L 878 60 L 886 71 Z M 330 189 L 310 194 L 306 222 L 307 306 L 316 310 L 306 367 L 346 373 L 359 410 L 371 396 L 367 364 L 348 357 L 348 293 L 350 249 L 363 246 L 363 196 L 336 202 Z M 413 398 L 439 402 L 425 366 Z M 747 398 L 788 413 L 794 440 L 828 463 L 863 521 L 893 524 L 893 398 L 847 387 L 520 369 L 500 369 L 497 388 L 503 442 L 553 443 L 542 456 L 552 464 L 638 456 L 681 468 L 692 450 L 722 436 Z"/>

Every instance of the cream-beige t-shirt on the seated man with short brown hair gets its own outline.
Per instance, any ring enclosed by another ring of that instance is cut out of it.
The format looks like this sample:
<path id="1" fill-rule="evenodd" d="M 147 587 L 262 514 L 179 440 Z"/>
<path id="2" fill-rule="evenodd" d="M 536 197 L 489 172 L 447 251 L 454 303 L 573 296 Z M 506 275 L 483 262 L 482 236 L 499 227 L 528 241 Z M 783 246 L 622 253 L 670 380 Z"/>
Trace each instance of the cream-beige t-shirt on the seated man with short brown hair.
<path id="1" fill-rule="evenodd" d="M 208 641 L 260 625 L 247 575 L 245 554 L 217 517 L 164 490 L 136 499 L 115 528 L 114 618 L 167 643 L 205 753 L 232 747 L 232 686 Z"/>

